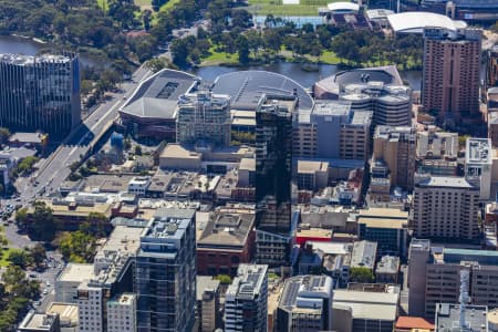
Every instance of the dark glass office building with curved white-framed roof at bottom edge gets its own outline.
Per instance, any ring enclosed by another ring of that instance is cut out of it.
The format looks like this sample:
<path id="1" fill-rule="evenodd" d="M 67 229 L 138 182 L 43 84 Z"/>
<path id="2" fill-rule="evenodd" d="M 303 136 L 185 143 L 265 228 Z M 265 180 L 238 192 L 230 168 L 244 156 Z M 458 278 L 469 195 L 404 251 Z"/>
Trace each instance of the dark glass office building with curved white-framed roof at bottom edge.
<path id="1" fill-rule="evenodd" d="M 332 278 L 299 276 L 286 280 L 277 308 L 278 332 L 332 330 Z"/>

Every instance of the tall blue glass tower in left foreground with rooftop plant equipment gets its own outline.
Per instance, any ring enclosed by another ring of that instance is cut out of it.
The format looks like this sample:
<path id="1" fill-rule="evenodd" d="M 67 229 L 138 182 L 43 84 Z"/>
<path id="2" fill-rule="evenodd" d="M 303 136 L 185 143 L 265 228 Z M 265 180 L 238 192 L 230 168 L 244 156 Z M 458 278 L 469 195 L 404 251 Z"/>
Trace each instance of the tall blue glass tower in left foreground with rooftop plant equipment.
<path id="1" fill-rule="evenodd" d="M 138 332 L 186 332 L 195 323 L 195 210 L 158 209 L 141 237 L 135 291 Z"/>

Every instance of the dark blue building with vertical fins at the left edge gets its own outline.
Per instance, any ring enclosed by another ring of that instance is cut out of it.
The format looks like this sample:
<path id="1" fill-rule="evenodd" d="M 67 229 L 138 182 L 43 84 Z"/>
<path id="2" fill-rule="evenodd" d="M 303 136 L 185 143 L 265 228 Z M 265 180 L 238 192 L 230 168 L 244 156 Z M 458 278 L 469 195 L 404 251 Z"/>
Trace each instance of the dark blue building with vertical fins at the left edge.
<path id="1" fill-rule="evenodd" d="M 64 136 L 81 123 L 75 53 L 0 54 L 0 125 Z"/>

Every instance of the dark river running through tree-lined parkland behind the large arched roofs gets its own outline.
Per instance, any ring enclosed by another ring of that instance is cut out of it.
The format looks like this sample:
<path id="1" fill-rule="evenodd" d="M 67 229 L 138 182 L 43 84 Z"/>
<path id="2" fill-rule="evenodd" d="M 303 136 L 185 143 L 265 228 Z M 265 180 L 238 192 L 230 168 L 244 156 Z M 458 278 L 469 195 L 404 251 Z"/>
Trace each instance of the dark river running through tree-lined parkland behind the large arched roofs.
<path id="1" fill-rule="evenodd" d="M 0 35 L 0 53 L 19 53 L 25 55 L 34 55 L 41 49 L 48 48 L 50 44 L 39 43 L 28 38 L 11 37 L 11 35 Z M 83 65 L 102 65 L 94 59 L 89 58 L 86 54 L 80 56 L 81 63 Z M 280 73 L 282 75 L 289 76 L 292 80 L 299 82 L 304 87 L 311 87 L 314 82 L 333 75 L 340 69 L 332 64 L 320 64 L 318 65 L 318 71 L 303 71 L 301 65 L 298 63 L 281 62 L 269 65 L 258 65 L 248 68 L 228 68 L 228 66 L 205 66 L 197 69 L 195 71 L 196 75 L 200 77 L 214 81 L 218 75 L 230 73 L 240 70 L 262 70 Z M 419 90 L 421 87 L 421 71 L 401 71 L 403 80 L 405 80 L 414 90 Z"/>

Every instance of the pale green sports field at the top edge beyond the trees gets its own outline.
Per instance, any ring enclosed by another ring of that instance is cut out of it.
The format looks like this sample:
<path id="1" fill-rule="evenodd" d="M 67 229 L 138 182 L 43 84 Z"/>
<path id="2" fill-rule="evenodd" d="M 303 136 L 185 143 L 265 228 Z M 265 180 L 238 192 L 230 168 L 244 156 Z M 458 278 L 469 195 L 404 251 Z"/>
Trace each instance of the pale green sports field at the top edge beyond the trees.
<path id="1" fill-rule="evenodd" d="M 300 0 L 299 4 L 282 4 L 282 0 L 249 0 L 249 12 L 257 15 L 315 17 L 318 9 L 344 0 Z"/>

